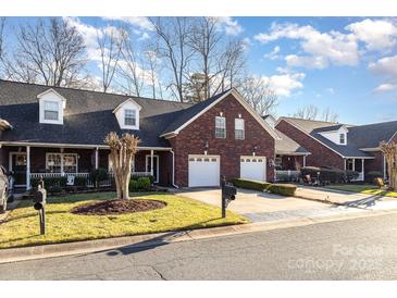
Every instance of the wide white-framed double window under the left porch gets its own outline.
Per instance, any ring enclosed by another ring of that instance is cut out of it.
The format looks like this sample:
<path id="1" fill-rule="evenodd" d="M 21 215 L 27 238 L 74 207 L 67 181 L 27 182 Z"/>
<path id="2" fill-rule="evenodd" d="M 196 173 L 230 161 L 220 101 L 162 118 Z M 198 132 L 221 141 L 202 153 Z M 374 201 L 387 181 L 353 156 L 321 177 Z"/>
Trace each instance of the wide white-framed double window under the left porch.
<path id="1" fill-rule="evenodd" d="M 50 173 L 77 173 L 77 154 L 48 153 L 46 169 Z"/>

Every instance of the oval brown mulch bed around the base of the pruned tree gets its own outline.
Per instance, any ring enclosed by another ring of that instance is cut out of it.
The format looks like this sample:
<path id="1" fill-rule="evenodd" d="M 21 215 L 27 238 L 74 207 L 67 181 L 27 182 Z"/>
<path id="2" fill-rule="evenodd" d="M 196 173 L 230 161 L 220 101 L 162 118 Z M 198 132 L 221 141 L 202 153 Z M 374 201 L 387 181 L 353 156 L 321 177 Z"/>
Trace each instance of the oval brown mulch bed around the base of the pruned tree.
<path id="1" fill-rule="evenodd" d="M 165 202 L 157 200 L 107 200 L 77 206 L 71 210 L 71 213 L 79 215 L 114 215 L 150 211 L 164 208 L 165 206 Z"/>

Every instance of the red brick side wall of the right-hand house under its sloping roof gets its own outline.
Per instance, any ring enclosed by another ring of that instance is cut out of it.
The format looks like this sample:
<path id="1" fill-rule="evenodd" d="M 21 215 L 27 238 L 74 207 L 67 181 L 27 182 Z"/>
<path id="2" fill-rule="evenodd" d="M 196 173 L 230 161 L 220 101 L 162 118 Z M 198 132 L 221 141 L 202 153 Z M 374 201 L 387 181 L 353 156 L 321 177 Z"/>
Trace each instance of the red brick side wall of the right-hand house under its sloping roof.
<path id="1" fill-rule="evenodd" d="M 345 163 L 340 156 L 328 149 L 327 147 L 321 145 L 319 141 L 312 139 L 305 133 L 295 128 L 293 125 L 282 120 L 276 128 L 290 137 L 293 140 L 306 148 L 310 156 L 306 158 L 306 165 L 311 166 L 334 166 L 338 169 L 344 169 Z"/>

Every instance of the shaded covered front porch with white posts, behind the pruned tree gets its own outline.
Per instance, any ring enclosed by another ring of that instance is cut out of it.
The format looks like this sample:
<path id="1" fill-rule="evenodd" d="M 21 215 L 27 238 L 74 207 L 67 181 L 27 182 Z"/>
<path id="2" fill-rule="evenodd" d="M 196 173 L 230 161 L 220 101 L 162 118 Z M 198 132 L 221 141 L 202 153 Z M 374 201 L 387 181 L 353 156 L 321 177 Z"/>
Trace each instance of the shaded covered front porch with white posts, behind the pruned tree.
<path id="1" fill-rule="evenodd" d="M 14 173 L 15 187 L 29 189 L 32 179 L 67 177 L 73 186 L 75 178 L 85 178 L 87 187 L 94 187 L 90 173 L 104 169 L 112 184 L 112 165 L 106 146 L 66 145 L 2 145 L 0 161 Z M 132 161 L 132 176 L 153 176 L 154 183 L 173 184 L 173 152 L 165 148 L 139 148 Z"/>

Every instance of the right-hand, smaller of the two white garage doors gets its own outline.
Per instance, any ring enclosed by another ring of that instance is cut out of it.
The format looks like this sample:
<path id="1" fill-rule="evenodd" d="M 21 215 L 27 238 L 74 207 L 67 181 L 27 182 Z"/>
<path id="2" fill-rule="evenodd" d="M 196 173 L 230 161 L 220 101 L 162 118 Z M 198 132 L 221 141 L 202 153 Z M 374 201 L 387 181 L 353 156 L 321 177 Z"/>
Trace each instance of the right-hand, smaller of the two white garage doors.
<path id="1" fill-rule="evenodd" d="M 240 157 L 240 177 L 245 179 L 266 179 L 265 157 Z"/>

